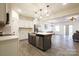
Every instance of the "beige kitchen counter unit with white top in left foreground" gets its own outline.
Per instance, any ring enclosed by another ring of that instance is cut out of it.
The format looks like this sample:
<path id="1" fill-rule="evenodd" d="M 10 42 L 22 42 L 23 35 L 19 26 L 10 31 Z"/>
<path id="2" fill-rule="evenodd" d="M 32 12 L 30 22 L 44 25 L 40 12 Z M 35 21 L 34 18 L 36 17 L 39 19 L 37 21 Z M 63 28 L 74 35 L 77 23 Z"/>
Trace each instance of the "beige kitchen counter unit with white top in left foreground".
<path id="1" fill-rule="evenodd" d="M 18 42 L 17 36 L 0 36 L 0 56 L 17 56 Z"/>

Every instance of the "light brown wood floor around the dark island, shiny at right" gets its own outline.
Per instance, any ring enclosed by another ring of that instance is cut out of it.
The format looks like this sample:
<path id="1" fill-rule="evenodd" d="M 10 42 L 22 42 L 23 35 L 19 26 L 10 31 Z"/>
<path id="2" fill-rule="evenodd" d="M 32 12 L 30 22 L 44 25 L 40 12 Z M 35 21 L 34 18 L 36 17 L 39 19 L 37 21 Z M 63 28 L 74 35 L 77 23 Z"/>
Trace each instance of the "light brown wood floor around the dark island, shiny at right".
<path id="1" fill-rule="evenodd" d="M 21 56 L 79 56 L 79 42 L 73 42 L 69 36 L 53 35 L 51 49 L 43 52 L 30 45 L 27 40 L 19 42 Z"/>

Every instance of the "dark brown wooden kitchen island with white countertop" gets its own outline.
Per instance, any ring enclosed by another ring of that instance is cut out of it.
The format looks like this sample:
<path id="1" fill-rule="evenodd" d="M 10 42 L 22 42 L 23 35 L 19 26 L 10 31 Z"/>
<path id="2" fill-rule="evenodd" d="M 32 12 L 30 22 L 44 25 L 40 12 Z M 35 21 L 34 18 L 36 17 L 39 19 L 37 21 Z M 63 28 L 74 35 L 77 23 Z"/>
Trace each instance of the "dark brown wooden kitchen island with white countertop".
<path id="1" fill-rule="evenodd" d="M 33 46 L 46 51 L 51 48 L 52 33 L 29 33 L 28 42 Z"/>

